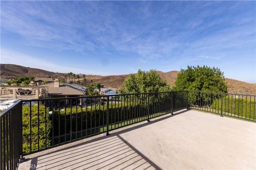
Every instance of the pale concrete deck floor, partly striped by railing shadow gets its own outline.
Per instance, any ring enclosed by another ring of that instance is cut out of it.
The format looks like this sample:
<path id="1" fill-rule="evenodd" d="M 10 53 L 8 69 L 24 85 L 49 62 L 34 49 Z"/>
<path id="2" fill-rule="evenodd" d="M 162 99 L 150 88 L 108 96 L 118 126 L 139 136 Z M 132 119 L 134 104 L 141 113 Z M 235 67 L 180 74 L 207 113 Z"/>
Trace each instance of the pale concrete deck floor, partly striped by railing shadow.
<path id="1" fill-rule="evenodd" d="M 256 124 L 181 111 L 26 156 L 19 169 L 255 169 Z"/>

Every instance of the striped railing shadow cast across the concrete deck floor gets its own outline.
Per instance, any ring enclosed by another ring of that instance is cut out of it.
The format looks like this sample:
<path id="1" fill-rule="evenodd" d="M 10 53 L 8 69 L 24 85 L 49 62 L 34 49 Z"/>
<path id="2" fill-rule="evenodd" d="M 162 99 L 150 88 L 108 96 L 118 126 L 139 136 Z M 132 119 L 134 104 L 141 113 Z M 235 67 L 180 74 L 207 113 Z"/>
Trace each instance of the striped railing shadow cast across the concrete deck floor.
<path id="1" fill-rule="evenodd" d="M 30 162 L 30 169 L 161 169 L 153 161 L 123 139 L 120 134 L 130 132 L 144 126 L 166 120 L 186 111 L 178 111 L 173 115 L 156 118 L 150 122 L 134 125 L 124 130 L 113 132 L 89 141 L 65 148 L 45 150 L 39 156 L 26 159 L 23 164 Z M 110 131 L 111 132 L 111 131 Z M 28 166 L 28 165 L 27 165 Z M 33 168 L 31 168 L 33 167 Z"/>

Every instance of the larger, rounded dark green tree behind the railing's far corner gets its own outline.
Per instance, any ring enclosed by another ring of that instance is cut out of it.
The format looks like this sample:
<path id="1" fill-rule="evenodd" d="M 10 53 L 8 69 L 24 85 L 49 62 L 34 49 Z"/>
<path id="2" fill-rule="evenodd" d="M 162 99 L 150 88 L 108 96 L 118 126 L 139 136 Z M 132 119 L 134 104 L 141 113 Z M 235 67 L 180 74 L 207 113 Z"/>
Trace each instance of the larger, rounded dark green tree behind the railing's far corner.
<path id="1" fill-rule="evenodd" d="M 227 92 L 223 72 L 218 68 L 205 65 L 181 69 L 174 84 L 173 90 Z"/>

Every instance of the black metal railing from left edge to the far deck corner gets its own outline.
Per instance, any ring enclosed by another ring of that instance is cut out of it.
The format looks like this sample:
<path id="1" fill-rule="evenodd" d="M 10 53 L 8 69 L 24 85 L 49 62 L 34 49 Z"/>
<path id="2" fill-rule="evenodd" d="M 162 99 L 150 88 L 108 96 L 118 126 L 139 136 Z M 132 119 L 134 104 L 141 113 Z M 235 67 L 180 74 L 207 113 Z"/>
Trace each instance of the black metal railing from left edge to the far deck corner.
<path id="1" fill-rule="evenodd" d="M 13 169 L 20 155 L 109 134 L 184 108 L 188 108 L 188 91 L 22 100 L 1 113 L 1 169 Z M 6 122 L 10 118 L 14 120 Z M 17 127 L 19 130 L 12 135 L 10 132 Z M 9 149 L 13 143 L 18 147 L 15 154 Z M 15 162 L 9 166 L 13 156 Z"/>

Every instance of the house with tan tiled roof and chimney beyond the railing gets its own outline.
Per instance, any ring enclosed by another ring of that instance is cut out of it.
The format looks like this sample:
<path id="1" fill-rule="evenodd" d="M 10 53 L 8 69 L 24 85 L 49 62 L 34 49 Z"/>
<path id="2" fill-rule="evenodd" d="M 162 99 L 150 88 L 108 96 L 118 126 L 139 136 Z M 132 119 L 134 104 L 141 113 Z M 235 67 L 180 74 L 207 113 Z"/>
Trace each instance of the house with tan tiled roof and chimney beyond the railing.
<path id="1" fill-rule="evenodd" d="M 83 97 L 86 96 L 87 90 L 86 87 L 80 86 L 78 84 L 59 82 L 59 79 L 55 79 L 52 83 L 43 84 L 41 86 L 48 88 L 47 95 L 50 96 L 50 98 Z M 75 103 L 75 99 L 73 100 L 71 102 Z M 64 102 L 64 100 L 62 102 Z M 84 99 L 83 101 L 81 99 L 77 102 L 82 104 Z M 67 101 L 67 103 L 69 103 L 69 101 Z"/>

